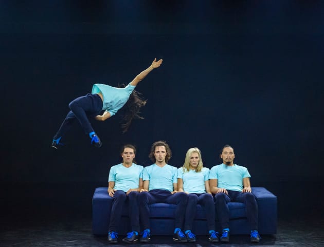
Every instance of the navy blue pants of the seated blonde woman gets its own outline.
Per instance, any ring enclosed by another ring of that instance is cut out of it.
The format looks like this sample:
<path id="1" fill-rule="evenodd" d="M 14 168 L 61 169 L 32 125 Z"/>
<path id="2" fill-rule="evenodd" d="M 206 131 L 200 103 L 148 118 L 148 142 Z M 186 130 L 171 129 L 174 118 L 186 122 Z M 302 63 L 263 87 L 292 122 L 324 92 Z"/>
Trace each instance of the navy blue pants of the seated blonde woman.
<path id="1" fill-rule="evenodd" d="M 209 231 L 215 230 L 215 206 L 212 195 L 203 194 L 188 194 L 186 207 L 185 227 L 184 230 L 192 230 L 193 219 L 196 214 L 196 205 L 200 204 L 204 207 Z"/>

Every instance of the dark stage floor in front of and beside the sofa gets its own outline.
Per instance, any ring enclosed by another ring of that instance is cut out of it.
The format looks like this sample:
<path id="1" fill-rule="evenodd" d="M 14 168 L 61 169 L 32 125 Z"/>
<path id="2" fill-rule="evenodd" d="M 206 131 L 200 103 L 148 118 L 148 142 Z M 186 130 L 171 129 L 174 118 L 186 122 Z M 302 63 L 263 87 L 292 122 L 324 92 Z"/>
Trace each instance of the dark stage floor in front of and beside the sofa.
<path id="1" fill-rule="evenodd" d="M 37 212 L 35 212 L 37 214 Z M 228 244 L 210 243 L 207 236 L 197 236 L 195 243 L 175 243 L 171 236 L 152 236 L 146 244 L 109 244 L 106 236 L 96 237 L 91 232 L 91 219 L 57 219 L 51 221 L 2 222 L 2 247 L 60 247 L 60 246 L 324 246 L 323 222 L 279 220 L 278 234 L 264 235 L 259 244 L 251 244 L 247 235 L 232 235 Z"/>

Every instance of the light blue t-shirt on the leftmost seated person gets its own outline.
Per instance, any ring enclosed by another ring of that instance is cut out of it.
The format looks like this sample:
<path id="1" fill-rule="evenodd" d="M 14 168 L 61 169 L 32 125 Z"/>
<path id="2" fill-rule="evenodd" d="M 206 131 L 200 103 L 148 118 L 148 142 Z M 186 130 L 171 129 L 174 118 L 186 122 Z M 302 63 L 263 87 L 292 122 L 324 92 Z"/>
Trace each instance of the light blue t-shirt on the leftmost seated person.
<path id="1" fill-rule="evenodd" d="M 139 178 L 142 177 L 143 166 L 132 164 L 125 167 L 122 163 L 110 168 L 108 182 L 115 182 L 114 189 L 128 192 L 130 188 L 138 188 Z"/>

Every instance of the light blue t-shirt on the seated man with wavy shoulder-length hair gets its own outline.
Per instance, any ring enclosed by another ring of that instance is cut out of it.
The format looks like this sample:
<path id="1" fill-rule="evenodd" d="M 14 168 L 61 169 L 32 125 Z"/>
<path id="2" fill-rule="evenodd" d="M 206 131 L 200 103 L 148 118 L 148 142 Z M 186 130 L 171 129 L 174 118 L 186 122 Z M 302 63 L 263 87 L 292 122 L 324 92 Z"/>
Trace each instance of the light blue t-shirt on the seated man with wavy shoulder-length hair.
<path id="1" fill-rule="evenodd" d="M 172 192 L 173 183 L 177 183 L 177 175 L 177 168 L 168 164 L 163 167 L 153 164 L 143 169 L 143 181 L 150 180 L 149 191 L 152 189 L 166 189 Z"/>

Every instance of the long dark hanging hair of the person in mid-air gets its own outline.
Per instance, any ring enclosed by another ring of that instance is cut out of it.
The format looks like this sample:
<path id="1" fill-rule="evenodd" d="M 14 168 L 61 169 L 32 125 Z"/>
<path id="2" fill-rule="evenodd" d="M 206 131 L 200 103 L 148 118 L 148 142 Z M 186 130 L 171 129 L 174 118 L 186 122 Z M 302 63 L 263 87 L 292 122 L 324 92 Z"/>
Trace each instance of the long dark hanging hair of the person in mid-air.
<path id="1" fill-rule="evenodd" d="M 119 87 L 125 87 L 125 85 L 121 84 L 119 85 Z M 126 132 L 131 126 L 133 119 L 143 119 L 143 117 L 139 115 L 139 110 L 142 106 L 145 106 L 146 103 L 147 100 L 142 99 L 142 94 L 136 90 L 133 90 L 133 92 L 130 95 L 130 98 L 122 107 L 123 113 L 121 120 L 121 128 L 123 133 Z"/>

